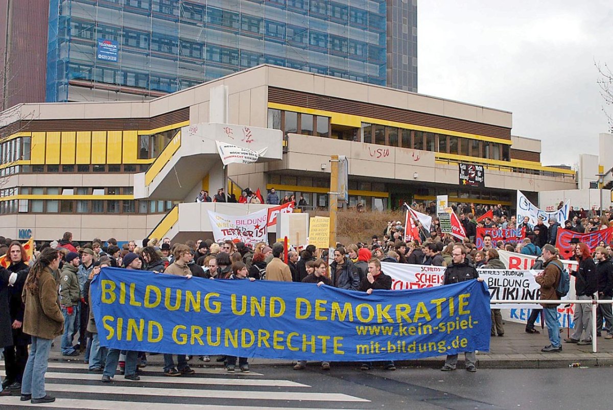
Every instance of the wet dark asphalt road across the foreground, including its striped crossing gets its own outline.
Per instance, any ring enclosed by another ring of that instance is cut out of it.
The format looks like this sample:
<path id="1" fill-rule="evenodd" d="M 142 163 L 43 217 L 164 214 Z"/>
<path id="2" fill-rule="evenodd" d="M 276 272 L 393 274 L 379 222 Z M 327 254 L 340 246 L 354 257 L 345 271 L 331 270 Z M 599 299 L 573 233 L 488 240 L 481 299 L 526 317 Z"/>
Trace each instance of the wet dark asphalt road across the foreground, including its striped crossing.
<path id="1" fill-rule="evenodd" d="M 609 409 L 606 380 L 611 368 L 552 370 L 456 370 L 319 366 L 294 371 L 291 366 L 252 366 L 249 374 L 223 368 L 194 368 L 197 374 L 167 378 L 160 368 L 145 368 L 141 381 L 117 375 L 102 384 L 99 373 L 82 363 L 51 363 L 48 393 L 58 400 L 45 408 L 308 408 L 314 409 Z M 4 369 L 2 368 L 2 373 Z M 31 408 L 17 396 L 1 397 L 0 408 Z"/>

